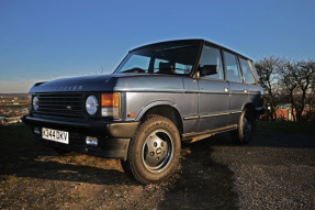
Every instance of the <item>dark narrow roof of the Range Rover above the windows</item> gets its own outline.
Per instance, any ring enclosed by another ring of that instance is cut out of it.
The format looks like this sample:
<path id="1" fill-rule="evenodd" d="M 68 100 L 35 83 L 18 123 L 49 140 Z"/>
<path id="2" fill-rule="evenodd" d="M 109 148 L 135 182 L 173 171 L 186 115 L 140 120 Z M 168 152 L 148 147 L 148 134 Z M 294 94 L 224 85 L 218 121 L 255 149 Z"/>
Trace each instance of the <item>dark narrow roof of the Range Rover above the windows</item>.
<path id="1" fill-rule="evenodd" d="M 230 53 L 234 53 L 236 55 L 239 55 L 240 57 L 244 57 L 246 59 L 249 59 L 252 62 L 252 59 L 248 58 L 247 56 L 243 55 L 243 54 L 239 54 L 230 48 L 227 48 L 227 47 L 224 47 L 220 44 L 216 44 L 214 42 L 210 42 L 207 40 L 203 40 L 203 38 L 187 38 L 187 40 L 172 40 L 172 41 L 164 41 L 164 42 L 157 42 L 157 43 L 153 43 L 153 44 L 147 44 L 147 45 L 143 45 L 143 46 L 139 46 L 139 47 L 136 47 L 136 48 L 133 48 L 131 52 L 134 52 L 134 51 L 138 51 L 138 49 L 142 49 L 142 48 L 146 48 L 146 47 L 151 47 L 151 46 L 158 46 L 158 45 L 161 45 L 161 44 L 170 44 L 170 43 L 178 43 L 178 44 L 200 44 L 200 45 L 203 45 L 203 44 L 209 44 L 209 45 L 213 45 L 213 46 L 216 46 L 216 47 L 220 47 L 222 49 L 225 49 L 227 52 L 230 52 Z"/>

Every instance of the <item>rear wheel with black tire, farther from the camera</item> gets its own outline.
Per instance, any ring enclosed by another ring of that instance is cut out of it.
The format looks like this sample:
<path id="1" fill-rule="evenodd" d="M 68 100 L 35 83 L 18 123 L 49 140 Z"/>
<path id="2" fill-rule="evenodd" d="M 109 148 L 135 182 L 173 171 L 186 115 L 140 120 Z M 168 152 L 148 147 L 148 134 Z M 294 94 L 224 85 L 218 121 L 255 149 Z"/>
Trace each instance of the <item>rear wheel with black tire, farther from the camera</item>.
<path id="1" fill-rule="evenodd" d="M 243 110 L 237 130 L 232 131 L 232 137 L 237 144 L 247 144 L 252 137 L 255 131 L 255 115 L 249 109 Z"/>

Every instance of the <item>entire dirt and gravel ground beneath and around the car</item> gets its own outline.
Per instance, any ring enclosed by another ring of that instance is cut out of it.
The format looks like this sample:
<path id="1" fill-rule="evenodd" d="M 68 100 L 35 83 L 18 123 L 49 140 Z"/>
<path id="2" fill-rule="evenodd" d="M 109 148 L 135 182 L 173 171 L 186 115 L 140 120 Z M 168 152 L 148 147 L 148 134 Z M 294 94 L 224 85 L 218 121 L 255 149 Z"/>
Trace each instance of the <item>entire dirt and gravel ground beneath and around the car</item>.
<path id="1" fill-rule="evenodd" d="M 257 133 L 237 146 L 224 134 L 183 145 L 179 173 L 149 186 L 130 179 L 115 159 L 36 150 L 1 159 L 0 209 L 315 207 L 314 135 Z"/>

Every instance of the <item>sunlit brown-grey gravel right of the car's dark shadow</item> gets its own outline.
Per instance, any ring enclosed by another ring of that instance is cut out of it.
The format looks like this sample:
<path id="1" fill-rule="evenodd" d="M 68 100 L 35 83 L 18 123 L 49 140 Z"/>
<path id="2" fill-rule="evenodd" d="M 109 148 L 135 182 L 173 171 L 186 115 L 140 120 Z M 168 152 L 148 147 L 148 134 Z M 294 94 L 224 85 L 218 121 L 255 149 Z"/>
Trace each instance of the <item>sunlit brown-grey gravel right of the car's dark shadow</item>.
<path id="1" fill-rule="evenodd" d="M 315 136 L 258 133 L 247 146 L 216 140 L 212 158 L 234 172 L 239 209 L 315 209 Z"/>

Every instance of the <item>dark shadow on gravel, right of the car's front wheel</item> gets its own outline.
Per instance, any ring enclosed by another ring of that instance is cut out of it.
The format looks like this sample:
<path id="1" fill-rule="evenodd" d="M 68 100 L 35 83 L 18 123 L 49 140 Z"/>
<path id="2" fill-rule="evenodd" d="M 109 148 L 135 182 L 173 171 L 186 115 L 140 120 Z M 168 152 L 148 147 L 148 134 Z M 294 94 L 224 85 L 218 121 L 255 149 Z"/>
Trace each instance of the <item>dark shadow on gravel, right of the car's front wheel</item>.
<path id="1" fill-rule="evenodd" d="M 216 136 L 182 145 L 181 170 L 159 209 L 237 209 L 233 172 L 212 159 Z M 233 144 L 224 140 L 223 144 Z"/>

